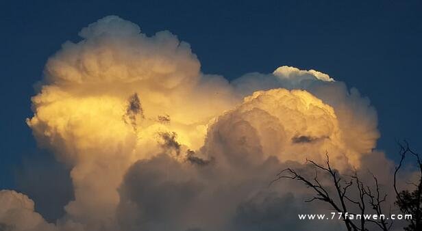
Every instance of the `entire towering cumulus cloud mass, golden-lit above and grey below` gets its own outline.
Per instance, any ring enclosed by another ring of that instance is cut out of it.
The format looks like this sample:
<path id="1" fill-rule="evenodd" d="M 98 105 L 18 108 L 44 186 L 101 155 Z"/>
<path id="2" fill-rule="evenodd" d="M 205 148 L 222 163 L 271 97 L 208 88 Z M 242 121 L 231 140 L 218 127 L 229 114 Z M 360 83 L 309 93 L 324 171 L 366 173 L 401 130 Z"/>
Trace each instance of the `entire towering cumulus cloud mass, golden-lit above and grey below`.
<path id="1" fill-rule="evenodd" d="M 169 31 L 148 37 L 117 16 L 79 36 L 47 61 L 27 119 L 38 144 L 71 168 L 75 199 L 53 225 L 5 191 L 7 228 L 303 230 L 314 224 L 297 223 L 299 211 L 326 210 L 301 203 L 308 192 L 294 182 L 268 187 L 278 170 L 325 152 L 344 172 L 373 161 L 375 109 L 327 74 L 281 66 L 229 83 L 203 74 Z"/>

